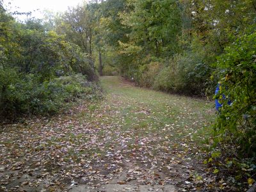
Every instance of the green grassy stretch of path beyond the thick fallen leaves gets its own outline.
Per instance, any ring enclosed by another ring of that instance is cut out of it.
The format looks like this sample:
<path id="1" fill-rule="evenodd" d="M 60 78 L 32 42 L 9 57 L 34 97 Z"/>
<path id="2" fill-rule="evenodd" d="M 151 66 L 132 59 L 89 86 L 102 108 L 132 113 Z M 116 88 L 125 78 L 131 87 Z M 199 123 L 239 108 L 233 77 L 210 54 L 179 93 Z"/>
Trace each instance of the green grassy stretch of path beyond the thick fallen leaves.
<path id="1" fill-rule="evenodd" d="M 138 88 L 121 77 L 102 77 L 100 82 L 111 114 L 108 121 L 115 121 L 122 131 L 136 131 L 136 136 L 144 137 L 157 134 L 172 144 L 184 141 L 193 145 L 211 132 L 212 101 Z"/>

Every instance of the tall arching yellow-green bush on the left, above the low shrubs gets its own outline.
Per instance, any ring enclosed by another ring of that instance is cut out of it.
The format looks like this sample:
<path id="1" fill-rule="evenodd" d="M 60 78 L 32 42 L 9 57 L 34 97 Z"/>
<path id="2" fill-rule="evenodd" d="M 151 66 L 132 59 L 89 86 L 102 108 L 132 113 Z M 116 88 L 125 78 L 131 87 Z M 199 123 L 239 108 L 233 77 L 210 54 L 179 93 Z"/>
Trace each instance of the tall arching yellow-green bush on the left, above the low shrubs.
<path id="1" fill-rule="evenodd" d="M 40 20 L 16 22 L 5 10 L 0 12 L 0 66 L 19 68 L 19 72 L 36 74 L 40 81 L 82 73 L 89 81 L 97 81 L 90 56 L 67 42 L 64 36 L 46 31 Z"/>

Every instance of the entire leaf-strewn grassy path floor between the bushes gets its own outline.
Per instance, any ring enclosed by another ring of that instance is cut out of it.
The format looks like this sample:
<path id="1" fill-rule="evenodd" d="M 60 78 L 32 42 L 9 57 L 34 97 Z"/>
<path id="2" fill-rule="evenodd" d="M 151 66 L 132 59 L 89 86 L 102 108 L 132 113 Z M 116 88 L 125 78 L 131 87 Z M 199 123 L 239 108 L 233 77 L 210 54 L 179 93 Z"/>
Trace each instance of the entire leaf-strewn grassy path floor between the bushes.
<path id="1" fill-rule="evenodd" d="M 216 187 L 198 147 L 214 121 L 212 102 L 138 88 L 120 77 L 102 77 L 101 84 L 101 101 L 1 126 L 0 191 Z"/>

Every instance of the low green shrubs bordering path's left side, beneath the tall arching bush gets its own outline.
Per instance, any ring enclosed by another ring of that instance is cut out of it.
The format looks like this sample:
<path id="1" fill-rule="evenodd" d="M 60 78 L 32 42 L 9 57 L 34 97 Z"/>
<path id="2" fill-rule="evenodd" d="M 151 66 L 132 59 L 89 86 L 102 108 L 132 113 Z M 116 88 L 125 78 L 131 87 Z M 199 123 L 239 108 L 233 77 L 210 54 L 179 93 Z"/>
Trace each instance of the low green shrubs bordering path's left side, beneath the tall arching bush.
<path id="1" fill-rule="evenodd" d="M 80 74 L 39 83 L 32 74 L 20 75 L 13 69 L 0 70 L 0 115 L 20 113 L 51 114 L 65 102 L 92 94 L 95 89 Z"/>

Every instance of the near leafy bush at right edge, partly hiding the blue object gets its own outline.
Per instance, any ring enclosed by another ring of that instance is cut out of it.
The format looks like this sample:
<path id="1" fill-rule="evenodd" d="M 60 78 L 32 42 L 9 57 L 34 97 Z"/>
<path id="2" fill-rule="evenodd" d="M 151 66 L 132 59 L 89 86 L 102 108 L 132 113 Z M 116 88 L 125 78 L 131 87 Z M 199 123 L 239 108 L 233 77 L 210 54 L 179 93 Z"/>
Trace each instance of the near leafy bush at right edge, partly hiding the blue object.
<path id="1" fill-rule="evenodd" d="M 215 143 L 231 143 L 243 157 L 256 157 L 256 32 L 237 38 L 216 65 L 216 98 L 223 106 L 214 125 Z"/>

